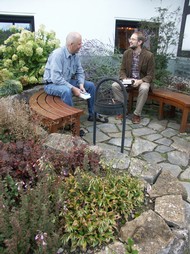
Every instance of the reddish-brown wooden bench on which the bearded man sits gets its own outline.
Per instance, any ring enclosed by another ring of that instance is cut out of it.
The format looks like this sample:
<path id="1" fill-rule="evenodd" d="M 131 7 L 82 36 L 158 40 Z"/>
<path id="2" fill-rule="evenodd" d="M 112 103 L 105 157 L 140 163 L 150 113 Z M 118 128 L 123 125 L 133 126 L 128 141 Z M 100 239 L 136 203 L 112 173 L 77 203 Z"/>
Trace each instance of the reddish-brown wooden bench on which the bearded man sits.
<path id="1" fill-rule="evenodd" d="M 131 112 L 133 106 L 133 100 L 138 95 L 137 89 L 128 90 L 128 112 Z M 188 124 L 188 114 L 190 113 L 190 95 L 170 91 L 167 89 L 154 89 L 149 92 L 148 100 L 155 100 L 159 103 L 158 119 L 164 118 L 164 105 L 171 105 L 170 115 L 175 115 L 175 108 L 182 110 L 182 118 L 179 132 L 185 132 Z"/>

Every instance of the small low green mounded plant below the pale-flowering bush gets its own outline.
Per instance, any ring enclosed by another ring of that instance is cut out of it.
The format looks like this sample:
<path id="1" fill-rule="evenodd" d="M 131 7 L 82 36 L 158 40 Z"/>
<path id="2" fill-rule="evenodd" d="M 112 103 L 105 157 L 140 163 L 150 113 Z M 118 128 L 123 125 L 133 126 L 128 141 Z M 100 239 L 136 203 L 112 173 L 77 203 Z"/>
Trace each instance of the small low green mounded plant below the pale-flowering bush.
<path id="1" fill-rule="evenodd" d="M 23 91 L 23 87 L 20 81 L 5 80 L 0 83 L 0 97 L 18 94 Z"/>

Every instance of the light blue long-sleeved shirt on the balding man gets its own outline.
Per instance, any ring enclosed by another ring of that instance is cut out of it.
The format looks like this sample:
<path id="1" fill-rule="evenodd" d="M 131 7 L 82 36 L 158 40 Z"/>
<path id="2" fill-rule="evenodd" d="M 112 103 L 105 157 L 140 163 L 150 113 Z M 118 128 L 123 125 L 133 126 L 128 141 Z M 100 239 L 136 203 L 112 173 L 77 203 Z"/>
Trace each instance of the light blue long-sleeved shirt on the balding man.
<path id="1" fill-rule="evenodd" d="M 84 70 L 78 54 L 70 54 L 66 47 L 55 49 L 45 66 L 44 80 L 56 85 L 72 87 L 70 79 L 75 75 L 79 84 L 84 84 Z"/>

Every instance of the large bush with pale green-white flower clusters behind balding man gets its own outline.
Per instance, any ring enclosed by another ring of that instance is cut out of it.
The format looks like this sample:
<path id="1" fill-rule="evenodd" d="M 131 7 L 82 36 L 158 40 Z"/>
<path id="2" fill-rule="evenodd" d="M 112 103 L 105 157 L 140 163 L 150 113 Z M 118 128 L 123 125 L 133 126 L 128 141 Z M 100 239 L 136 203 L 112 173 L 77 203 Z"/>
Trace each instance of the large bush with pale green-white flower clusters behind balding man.
<path id="1" fill-rule="evenodd" d="M 55 33 L 20 29 L 0 46 L 0 80 L 19 80 L 23 86 L 42 82 L 49 54 L 59 46 Z"/>

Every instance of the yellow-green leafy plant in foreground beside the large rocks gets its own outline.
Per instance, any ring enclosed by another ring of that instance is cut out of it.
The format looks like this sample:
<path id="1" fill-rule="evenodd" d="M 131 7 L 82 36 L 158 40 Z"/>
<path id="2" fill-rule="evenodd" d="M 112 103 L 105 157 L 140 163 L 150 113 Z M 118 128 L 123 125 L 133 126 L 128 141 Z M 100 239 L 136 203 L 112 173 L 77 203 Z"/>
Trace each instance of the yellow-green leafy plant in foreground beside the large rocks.
<path id="1" fill-rule="evenodd" d="M 110 172 L 102 178 L 80 172 L 77 177 L 68 178 L 65 189 L 63 241 L 70 241 L 72 250 L 86 250 L 87 246 L 114 240 L 118 220 L 129 216 L 143 201 L 140 183 L 127 174 Z"/>

